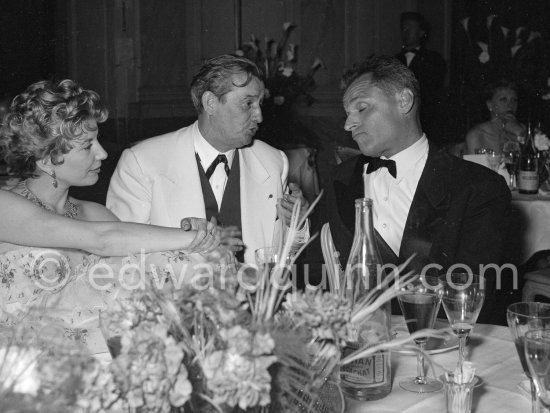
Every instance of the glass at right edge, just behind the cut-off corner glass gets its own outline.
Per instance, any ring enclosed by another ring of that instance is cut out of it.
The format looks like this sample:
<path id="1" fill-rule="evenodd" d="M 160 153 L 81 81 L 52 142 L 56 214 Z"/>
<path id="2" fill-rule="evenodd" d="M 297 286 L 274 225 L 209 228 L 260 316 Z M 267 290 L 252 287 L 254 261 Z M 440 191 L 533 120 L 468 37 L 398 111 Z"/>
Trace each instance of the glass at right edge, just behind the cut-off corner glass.
<path id="1" fill-rule="evenodd" d="M 516 344 L 523 371 L 531 381 L 532 412 L 538 413 L 540 407 L 537 400 L 537 391 L 525 361 L 525 333 L 529 330 L 550 328 L 550 304 L 536 302 L 510 304 L 506 311 L 506 319 L 508 321 L 510 333 Z"/>

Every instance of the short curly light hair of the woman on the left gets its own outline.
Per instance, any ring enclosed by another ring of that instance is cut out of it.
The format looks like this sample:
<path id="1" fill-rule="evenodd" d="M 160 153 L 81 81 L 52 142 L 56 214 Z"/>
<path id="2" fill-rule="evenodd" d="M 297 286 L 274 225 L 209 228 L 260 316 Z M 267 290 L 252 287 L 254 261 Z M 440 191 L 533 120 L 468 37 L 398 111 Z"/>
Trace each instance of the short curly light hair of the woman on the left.
<path id="1" fill-rule="evenodd" d="M 55 165 L 74 147 L 88 121 L 105 122 L 108 110 L 99 95 L 74 80 L 48 80 L 17 95 L 0 127 L 0 156 L 12 175 L 35 176 L 36 161 L 50 157 Z"/>

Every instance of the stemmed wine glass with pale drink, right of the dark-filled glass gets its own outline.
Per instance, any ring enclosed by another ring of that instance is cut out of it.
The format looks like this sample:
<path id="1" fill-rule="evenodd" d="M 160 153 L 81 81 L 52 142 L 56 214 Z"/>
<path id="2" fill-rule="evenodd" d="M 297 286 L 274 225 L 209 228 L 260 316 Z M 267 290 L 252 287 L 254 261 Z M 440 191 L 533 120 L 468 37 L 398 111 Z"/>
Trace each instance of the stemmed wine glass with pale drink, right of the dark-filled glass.
<path id="1" fill-rule="evenodd" d="M 441 302 L 449 324 L 458 336 L 458 368 L 462 373 L 466 339 L 474 328 L 485 299 L 485 279 L 477 274 L 453 272 L 442 275 L 440 281 Z"/>

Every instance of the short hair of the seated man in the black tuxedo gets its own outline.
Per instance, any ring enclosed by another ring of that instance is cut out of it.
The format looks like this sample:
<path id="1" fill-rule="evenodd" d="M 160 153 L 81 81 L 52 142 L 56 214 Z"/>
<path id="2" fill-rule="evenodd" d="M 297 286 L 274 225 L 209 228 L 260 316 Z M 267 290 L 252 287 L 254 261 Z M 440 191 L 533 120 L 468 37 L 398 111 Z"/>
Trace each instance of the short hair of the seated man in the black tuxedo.
<path id="1" fill-rule="evenodd" d="M 420 100 L 420 87 L 414 73 L 393 56 L 370 56 L 355 64 L 342 78 L 342 89 L 347 89 L 359 77 L 370 74 L 371 83 L 391 96 L 405 88 L 414 93 L 415 100 Z"/>

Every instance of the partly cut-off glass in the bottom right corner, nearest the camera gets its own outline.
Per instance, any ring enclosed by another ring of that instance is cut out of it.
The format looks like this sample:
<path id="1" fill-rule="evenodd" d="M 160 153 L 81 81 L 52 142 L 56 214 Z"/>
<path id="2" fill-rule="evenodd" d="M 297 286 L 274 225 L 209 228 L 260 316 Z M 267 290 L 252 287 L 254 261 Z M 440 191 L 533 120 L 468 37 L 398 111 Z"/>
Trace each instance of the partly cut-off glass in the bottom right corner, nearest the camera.
<path id="1" fill-rule="evenodd" d="M 525 333 L 525 362 L 535 384 L 538 400 L 550 407 L 550 329 Z"/>

